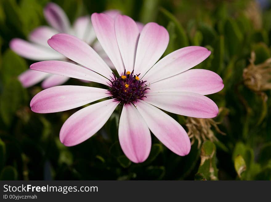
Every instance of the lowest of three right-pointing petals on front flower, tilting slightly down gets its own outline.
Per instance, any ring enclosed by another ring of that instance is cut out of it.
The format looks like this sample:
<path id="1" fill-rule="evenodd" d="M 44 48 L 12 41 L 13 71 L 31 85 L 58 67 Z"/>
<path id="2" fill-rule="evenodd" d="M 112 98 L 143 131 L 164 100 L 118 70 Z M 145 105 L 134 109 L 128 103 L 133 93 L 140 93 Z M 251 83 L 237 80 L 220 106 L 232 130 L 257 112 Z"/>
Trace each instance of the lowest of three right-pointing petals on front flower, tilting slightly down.
<path id="1" fill-rule="evenodd" d="M 160 92 L 146 96 L 144 101 L 171 113 L 196 118 L 213 118 L 218 114 L 216 103 L 197 93 Z"/>

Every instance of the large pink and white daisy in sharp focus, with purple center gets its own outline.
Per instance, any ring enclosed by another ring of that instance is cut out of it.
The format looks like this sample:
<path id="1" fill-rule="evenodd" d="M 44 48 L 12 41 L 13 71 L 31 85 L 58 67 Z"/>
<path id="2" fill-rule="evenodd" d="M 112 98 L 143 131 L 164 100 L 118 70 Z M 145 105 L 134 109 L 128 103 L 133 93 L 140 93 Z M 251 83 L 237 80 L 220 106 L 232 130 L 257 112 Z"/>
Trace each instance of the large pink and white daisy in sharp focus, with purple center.
<path id="1" fill-rule="evenodd" d="M 60 130 L 60 141 L 73 146 L 87 140 L 120 104 L 123 109 L 119 142 L 131 161 L 147 159 L 151 150 L 150 131 L 172 152 L 187 155 L 191 147 L 187 133 L 160 109 L 190 117 L 216 117 L 218 107 L 204 95 L 223 89 L 222 79 L 209 70 L 188 70 L 205 60 L 210 51 L 189 46 L 158 61 L 168 46 L 169 35 L 164 27 L 150 22 L 140 33 L 136 23 L 125 15 L 114 20 L 95 13 L 91 21 L 120 77 L 112 74 L 85 42 L 68 34 L 56 34 L 48 44 L 86 68 L 64 61 L 41 61 L 30 69 L 98 82 L 105 89 L 67 85 L 45 89 L 31 100 L 32 111 L 60 112 L 110 97 L 71 115 Z"/>

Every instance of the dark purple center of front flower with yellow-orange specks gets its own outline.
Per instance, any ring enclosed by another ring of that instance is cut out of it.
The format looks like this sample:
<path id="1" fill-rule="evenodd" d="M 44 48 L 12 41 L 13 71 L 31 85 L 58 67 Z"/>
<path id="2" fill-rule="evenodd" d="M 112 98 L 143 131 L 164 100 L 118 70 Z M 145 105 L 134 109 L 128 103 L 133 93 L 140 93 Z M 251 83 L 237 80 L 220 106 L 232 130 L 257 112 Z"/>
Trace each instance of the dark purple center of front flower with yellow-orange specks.
<path id="1" fill-rule="evenodd" d="M 134 71 L 129 72 L 124 70 L 122 76 L 117 78 L 114 75 L 114 80 L 111 81 L 111 88 L 109 92 L 112 97 L 120 101 L 122 104 L 134 103 L 137 99 L 142 99 L 145 96 L 145 91 L 148 90 L 147 81 L 140 81 L 139 75 L 134 75 Z"/>

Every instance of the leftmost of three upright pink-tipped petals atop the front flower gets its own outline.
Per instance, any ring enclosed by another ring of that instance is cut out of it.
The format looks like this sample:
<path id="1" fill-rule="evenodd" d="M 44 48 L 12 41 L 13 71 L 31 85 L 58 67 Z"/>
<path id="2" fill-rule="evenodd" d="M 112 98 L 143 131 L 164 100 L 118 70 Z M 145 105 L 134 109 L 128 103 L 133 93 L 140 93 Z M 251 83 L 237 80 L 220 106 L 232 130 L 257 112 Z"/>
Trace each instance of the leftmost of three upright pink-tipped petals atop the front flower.
<path id="1" fill-rule="evenodd" d="M 103 13 L 94 13 L 91 15 L 91 22 L 103 50 L 107 53 L 119 75 L 122 75 L 124 65 L 115 35 L 114 19 Z"/>

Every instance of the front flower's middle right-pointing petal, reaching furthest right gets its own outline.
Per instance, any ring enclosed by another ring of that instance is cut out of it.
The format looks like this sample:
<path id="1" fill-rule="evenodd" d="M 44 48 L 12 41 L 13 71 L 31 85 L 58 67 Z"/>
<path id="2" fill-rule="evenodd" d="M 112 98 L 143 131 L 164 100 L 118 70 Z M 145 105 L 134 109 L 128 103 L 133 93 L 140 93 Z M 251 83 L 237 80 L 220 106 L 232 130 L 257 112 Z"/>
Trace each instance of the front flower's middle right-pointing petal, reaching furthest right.
<path id="1" fill-rule="evenodd" d="M 208 95 L 219 92 L 223 87 L 223 81 L 218 74 L 206 69 L 189 69 L 152 83 L 149 92 L 191 92 Z"/>

